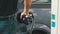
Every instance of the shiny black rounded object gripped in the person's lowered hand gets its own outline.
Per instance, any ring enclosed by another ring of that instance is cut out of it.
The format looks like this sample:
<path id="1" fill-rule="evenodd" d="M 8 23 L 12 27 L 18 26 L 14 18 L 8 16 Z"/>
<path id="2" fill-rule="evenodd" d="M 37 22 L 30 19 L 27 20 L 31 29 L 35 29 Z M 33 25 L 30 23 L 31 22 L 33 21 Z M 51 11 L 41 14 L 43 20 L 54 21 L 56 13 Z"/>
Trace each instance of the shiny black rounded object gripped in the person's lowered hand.
<path id="1" fill-rule="evenodd" d="M 17 15 L 17 21 L 19 23 L 24 23 L 26 25 L 28 25 L 29 23 L 32 23 L 34 19 L 32 12 L 30 12 L 28 16 L 22 16 L 22 18 L 20 18 L 20 16 L 21 16 L 21 12 Z"/>

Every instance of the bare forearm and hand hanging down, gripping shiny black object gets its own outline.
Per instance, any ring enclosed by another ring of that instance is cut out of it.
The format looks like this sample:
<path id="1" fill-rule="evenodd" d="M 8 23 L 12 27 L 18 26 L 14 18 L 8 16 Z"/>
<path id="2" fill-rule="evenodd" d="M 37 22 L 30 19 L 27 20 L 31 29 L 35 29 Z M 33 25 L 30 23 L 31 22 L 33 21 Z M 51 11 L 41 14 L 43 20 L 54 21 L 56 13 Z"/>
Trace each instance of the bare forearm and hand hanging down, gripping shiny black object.
<path id="1" fill-rule="evenodd" d="M 24 0 L 24 11 L 21 15 L 29 15 L 29 9 L 31 7 L 32 0 Z"/>

